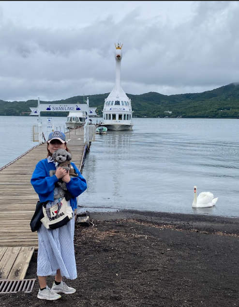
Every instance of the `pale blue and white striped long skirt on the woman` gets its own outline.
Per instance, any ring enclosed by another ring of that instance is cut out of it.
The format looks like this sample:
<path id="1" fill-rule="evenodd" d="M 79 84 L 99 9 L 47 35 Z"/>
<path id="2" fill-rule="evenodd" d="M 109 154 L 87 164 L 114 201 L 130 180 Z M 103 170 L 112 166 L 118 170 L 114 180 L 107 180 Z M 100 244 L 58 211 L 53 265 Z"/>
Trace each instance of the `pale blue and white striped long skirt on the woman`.
<path id="1" fill-rule="evenodd" d="M 49 202 L 46 208 L 55 205 L 59 199 Z M 70 201 L 68 202 L 70 206 Z M 37 275 L 55 276 L 60 269 L 62 276 L 68 279 L 77 277 L 74 249 L 75 219 L 57 229 L 42 226 L 38 234 Z"/>

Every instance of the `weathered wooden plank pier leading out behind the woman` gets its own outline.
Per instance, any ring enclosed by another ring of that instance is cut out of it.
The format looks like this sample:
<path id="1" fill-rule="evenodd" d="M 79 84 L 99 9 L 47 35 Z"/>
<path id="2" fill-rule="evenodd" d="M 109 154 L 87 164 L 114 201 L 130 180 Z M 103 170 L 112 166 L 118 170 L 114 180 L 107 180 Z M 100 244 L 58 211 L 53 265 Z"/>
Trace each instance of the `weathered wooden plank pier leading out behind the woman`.
<path id="1" fill-rule="evenodd" d="M 84 128 L 66 132 L 72 162 L 81 171 L 86 145 Z M 39 200 L 30 179 L 37 162 L 47 157 L 47 144 L 33 147 L 0 169 L 0 279 L 24 279 L 38 250 L 37 232 L 30 220 Z"/>

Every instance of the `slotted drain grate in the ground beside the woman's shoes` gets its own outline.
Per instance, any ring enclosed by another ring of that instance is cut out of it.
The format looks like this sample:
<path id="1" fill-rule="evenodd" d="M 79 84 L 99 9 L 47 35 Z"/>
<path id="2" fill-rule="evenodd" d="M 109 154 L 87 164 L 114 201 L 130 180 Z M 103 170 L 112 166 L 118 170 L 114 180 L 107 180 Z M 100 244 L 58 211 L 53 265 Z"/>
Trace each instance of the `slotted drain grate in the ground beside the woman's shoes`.
<path id="1" fill-rule="evenodd" d="M 11 280 L 11 279 L 1 279 L 0 280 L 0 294 L 5 293 L 16 293 L 19 291 L 24 291 L 30 293 L 35 284 L 36 279 L 21 279 L 21 280 Z"/>

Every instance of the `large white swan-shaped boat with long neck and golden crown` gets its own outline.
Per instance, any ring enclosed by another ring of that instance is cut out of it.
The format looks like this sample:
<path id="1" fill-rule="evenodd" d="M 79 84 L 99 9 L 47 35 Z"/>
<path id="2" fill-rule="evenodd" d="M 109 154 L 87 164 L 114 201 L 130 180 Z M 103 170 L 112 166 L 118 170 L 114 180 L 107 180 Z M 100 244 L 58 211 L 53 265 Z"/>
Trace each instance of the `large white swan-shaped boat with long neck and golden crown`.
<path id="1" fill-rule="evenodd" d="M 131 99 L 125 94 L 121 87 L 120 68 L 123 44 L 115 44 L 116 79 L 115 86 L 109 96 L 105 98 L 103 109 L 103 120 L 101 126 L 108 130 L 132 130 L 132 107 Z"/>

